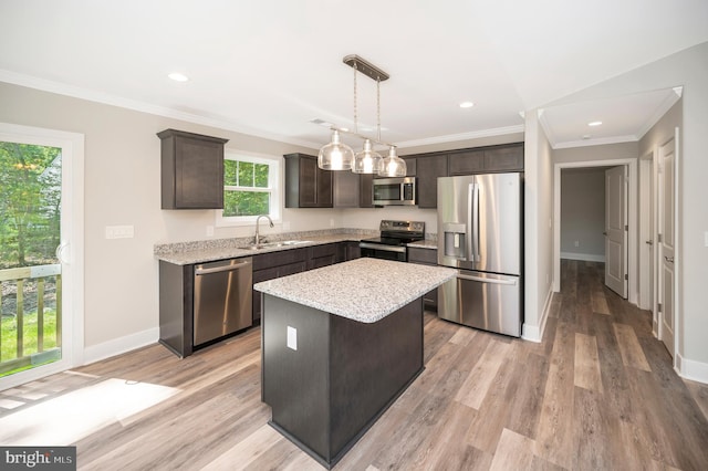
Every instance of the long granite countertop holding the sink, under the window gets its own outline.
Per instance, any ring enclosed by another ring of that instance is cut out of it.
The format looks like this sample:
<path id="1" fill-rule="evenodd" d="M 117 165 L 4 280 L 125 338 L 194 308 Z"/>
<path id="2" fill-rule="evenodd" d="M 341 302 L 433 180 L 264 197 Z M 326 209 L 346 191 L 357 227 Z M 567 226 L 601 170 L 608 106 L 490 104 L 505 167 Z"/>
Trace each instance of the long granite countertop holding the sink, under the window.
<path id="1" fill-rule="evenodd" d="M 247 242 L 242 244 L 236 244 L 235 247 L 230 247 L 228 244 L 219 244 L 217 242 L 214 245 L 201 244 L 197 248 L 186 248 L 185 250 L 176 250 L 167 253 L 155 253 L 157 260 L 163 260 L 165 262 L 174 263 L 176 265 L 189 265 L 192 263 L 204 263 L 204 262 L 212 262 L 215 260 L 226 260 L 226 259 L 238 259 L 240 257 L 252 257 L 259 253 L 267 252 L 278 252 L 281 250 L 290 250 L 298 249 L 301 247 L 311 247 L 311 245 L 322 245 L 325 243 L 335 243 L 335 242 L 345 242 L 345 241 L 356 241 L 358 242 L 362 239 L 371 236 L 358 236 L 358 234 L 329 234 L 329 236 L 317 236 L 317 237 L 299 237 L 298 240 L 302 241 L 302 243 L 298 243 L 294 245 L 271 245 L 263 247 L 260 249 L 250 249 Z M 271 238 L 264 237 L 269 241 Z M 273 240 L 273 242 L 277 242 Z"/>

